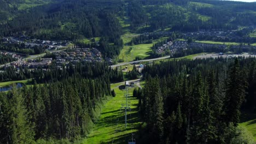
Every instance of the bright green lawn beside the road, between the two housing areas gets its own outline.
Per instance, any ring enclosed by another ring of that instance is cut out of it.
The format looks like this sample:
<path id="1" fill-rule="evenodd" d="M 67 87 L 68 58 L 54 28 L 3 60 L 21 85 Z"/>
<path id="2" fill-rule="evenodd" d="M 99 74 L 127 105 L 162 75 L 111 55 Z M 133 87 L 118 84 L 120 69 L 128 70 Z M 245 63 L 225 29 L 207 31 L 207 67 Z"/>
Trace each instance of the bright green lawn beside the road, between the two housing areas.
<path id="1" fill-rule="evenodd" d="M 152 46 L 153 44 L 124 46 L 120 52 L 119 59 L 124 59 L 125 62 L 130 62 L 134 61 L 136 57 L 140 57 L 142 59 L 147 58 L 150 56 L 150 52 L 152 52 Z M 130 47 L 132 47 L 131 50 Z"/>

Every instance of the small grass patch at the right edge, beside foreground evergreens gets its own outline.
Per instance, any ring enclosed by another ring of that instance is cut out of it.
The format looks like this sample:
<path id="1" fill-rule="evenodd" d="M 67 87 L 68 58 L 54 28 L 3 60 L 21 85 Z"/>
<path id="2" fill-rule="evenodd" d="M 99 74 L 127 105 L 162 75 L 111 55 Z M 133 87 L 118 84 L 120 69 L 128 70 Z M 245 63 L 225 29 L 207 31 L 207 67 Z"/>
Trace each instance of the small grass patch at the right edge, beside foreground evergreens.
<path id="1" fill-rule="evenodd" d="M 253 135 L 254 142 L 256 143 L 256 114 L 242 113 L 239 125 L 246 128 Z"/>

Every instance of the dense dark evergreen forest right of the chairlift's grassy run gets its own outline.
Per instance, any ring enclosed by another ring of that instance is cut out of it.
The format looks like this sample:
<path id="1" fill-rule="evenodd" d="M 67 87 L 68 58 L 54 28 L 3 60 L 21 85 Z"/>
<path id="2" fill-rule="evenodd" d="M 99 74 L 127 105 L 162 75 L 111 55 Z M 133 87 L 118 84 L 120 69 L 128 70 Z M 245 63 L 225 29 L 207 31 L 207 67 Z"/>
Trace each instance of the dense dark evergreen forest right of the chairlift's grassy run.
<path id="1" fill-rule="evenodd" d="M 145 87 L 141 93 L 137 89 L 133 93 L 140 99 L 141 116 L 147 123 L 141 140 L 229 143 L 236 139 L 252 143 L 240 137 L 236 126 L 242 109 L 251 107 L 247 110 L 255 112 L 256 95 L 252 89 L 246 93 L 255 86 L 254 79 L 247 79 L 255 75 L 254 63 L 254 58 L 218 58 L 147 65 Z M 249 99 L 254 102 L 245 103 Z M 232 135 L 234 131 L 239 135 Z"/>

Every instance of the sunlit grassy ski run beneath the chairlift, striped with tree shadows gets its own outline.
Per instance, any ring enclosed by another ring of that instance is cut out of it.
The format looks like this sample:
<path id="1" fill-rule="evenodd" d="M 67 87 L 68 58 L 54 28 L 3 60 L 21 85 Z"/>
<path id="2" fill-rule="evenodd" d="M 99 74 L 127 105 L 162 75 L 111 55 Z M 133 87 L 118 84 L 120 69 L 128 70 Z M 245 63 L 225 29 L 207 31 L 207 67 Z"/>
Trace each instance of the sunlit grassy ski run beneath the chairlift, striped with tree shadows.
<path id="1" fill-rule="evenodd" d="M 119 89 L 120 85 L 124 85 L 124 82 L 111 85 L 111 88 L 114 89 L 117 95 L 104 105 L 100 119 L 95 124 L 94 130 L 83 143 L 98 144 L 112 143 L 112 141 L 113 143 L 127 143 L 131 139 L 131 133 L 138 131 L 138 127 L 141 125 L 137 113 L 138 100 L 133 97 L 130 97 L 131 103 L 129 104 L 131 112 L 128 113 L 128 124 L 127 129 L 125 129 L 124 110 L 120 110 L 121 104 L 125 104 L 125 97 L 124 91 Z M 133 89 L 129 88 L 130 95 L 132 95 Z M 120 131 L 115 131 L 116 129 Z"/>

